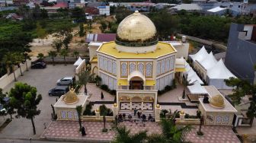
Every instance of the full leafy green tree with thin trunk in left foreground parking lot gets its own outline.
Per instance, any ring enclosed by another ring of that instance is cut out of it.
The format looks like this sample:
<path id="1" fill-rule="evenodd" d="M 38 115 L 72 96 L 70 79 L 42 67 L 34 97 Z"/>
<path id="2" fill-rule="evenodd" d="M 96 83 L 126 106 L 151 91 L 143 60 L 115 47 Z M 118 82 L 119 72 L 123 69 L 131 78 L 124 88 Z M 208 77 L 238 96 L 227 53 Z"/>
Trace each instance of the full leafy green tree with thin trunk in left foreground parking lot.
<path id="1" fill-rule="evenodd" d="M 41 94 L 37 95 L 37 88 L 18 82 L 15 84 L 14 88 L 11 88 L 9 97 L 11 97 L 10 102 L 14 105 L 14 109 L 17 110 L 16 118 L 21 116 L 30 119 L 34 135 L 36 135 L 34 118 L 40 114 L 37 105 L 40 103 L 40 100 L 42 100 Z"/>

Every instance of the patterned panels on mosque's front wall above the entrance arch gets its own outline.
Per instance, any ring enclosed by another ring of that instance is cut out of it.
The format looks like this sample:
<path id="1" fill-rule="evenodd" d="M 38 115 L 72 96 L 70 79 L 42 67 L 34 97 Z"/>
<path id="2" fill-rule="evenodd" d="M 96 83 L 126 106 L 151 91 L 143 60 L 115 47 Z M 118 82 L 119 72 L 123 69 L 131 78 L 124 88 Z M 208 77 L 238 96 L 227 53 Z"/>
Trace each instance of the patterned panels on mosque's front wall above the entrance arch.
<path id="1" fill-rule="evenodd" d="M 120 62 L 120 75 L 128 77 L 133 71 L 140 71 L 146 78 L 152 78 L 153 62 Z"/>

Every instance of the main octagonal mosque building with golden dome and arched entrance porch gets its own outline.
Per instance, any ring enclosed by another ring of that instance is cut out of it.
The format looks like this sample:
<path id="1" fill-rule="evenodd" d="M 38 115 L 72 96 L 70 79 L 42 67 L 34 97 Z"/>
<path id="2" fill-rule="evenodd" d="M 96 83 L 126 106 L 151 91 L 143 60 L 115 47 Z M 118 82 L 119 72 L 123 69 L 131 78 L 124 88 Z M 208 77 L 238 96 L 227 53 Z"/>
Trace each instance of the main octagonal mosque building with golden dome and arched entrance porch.
<path id="1" fill-rule="evenodd" d="M 120 110 L 154 110 L 157 91 L 184 71 L 175 65 L 174 46 L 158 41 L 155 25 L 138 11 L 121 21 L 115 41 L 89 46 L 89 52 L 92 72 L 117 91 Z"/>

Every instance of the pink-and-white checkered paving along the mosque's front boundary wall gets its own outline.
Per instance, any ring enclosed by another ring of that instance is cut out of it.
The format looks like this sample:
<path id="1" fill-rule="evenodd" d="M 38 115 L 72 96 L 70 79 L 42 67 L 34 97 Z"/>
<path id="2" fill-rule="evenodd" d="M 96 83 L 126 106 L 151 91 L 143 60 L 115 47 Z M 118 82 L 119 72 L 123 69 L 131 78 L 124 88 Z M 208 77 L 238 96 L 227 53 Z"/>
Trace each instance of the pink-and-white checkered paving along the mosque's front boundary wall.
<path id="1" fill-rule="evenodd" d="M 148 134 L 161 133 L 160 126 L 155 122 L 146 122 L 146 126 L 140 124 L 136 125 L 134 122 L 123 122 L 132 134 L 147 130 Z M 82 122 L 82 125 L 86 128 L 86 136 L 81 135 L 78 132 L 78 122 L 72 121 L 58 121 L 51 122 L 50 126 L 43 132 L 41 138 L 47 139 L 63 139 L 73 141 L 110 141 L 114 138 L 114 131 L 112 130 L 113 123 L 107 122 L 107 129 L 111 129 L 110 132 L 103 133 L 103 122 Z M 209 142 L 209 143 L 239 143 L 240 141 L 232 131 L 230 126 L 203 126 L 203 137 L 197 137 L 196 132 L 199 126 L 194 126 L 191 132 L 187 134 L 187 140 L 197 142 Z"/>

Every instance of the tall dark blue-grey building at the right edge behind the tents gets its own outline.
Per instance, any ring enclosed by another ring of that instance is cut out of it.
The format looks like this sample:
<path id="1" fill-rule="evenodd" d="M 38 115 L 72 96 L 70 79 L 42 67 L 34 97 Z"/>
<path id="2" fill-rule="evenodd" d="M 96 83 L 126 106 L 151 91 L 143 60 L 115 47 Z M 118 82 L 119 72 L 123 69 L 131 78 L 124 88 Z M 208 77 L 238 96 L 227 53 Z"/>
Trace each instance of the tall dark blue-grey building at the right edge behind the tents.
<path id="1" fill-rule="evenodd" d="M 238 78 L 254 82 L 256 25 L 231 24 L 225 64 Z"/>

